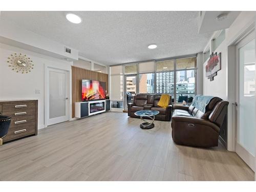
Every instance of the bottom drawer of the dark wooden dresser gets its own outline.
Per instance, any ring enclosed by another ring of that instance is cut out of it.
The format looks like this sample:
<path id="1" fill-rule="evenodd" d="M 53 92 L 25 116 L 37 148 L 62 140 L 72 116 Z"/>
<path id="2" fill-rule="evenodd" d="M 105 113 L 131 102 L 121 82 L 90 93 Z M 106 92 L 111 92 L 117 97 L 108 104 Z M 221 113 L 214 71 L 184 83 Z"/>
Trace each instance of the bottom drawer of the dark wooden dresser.
<path id="1" fill-rule="evenodd" d="M 26 137 L 35 134 L 35 125 L 20 125 L 16 127 L 10 127 L 8 134 L 3 138 L 3 141 L 11 141 L 14 139 Z"/>

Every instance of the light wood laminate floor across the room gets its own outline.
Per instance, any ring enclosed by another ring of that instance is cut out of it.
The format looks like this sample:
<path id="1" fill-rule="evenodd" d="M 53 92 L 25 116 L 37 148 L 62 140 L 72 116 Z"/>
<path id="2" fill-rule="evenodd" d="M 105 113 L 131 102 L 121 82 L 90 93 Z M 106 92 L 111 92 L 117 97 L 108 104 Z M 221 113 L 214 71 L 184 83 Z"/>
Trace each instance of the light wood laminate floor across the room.
<path id="1" fill-rule="evenodd" d="M 236 153 L 176 145 L 170 122 L 108 112 L 49 126 L 0 146 L 0 180 L 254 180 Z"/>

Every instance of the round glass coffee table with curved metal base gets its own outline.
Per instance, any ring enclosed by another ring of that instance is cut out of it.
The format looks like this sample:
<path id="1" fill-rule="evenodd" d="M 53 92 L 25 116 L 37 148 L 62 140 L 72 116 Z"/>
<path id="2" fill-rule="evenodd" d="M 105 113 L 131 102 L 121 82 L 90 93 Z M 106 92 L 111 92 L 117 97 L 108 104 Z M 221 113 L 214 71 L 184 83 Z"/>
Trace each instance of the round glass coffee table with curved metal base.
<path id="1" fill-rule="evenodd" d="M 156 110 L 140 110 L 135 112 L 135 115 L 140 116 L 140 120 L 144 121 L 144 123 L 140 124 L 141 129 L 152 129 L 155 127 L 154 120 L 155 115 L 159 114 L 159 111 Z M 150 118 L 152 121 L 148 122 L 147 120 L 143 119 L 143 117 Z"/>

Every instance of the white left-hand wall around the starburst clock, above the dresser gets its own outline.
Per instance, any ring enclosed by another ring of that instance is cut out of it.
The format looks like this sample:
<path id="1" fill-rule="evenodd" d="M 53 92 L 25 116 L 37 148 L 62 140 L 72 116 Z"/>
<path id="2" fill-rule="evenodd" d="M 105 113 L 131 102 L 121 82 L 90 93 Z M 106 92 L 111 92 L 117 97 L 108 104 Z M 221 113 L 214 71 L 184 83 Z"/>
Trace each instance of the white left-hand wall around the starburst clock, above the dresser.
<path id="1" fill-rule="evenodd" d="M 34 69 L 28 74 L 12 71 L 10 67 L 8 67 L 7 58 L 13 53 L 27 54 L 33 60 Z M 38 129 L 44 128 L 45 66 L 71 71 L 72 65 L 73 62 L 67 62 L 25 49 L 0 44 L 0 100 L 38 99 Z M 40 90 L 40 94 L 35 94 L 35 90 Z"/>

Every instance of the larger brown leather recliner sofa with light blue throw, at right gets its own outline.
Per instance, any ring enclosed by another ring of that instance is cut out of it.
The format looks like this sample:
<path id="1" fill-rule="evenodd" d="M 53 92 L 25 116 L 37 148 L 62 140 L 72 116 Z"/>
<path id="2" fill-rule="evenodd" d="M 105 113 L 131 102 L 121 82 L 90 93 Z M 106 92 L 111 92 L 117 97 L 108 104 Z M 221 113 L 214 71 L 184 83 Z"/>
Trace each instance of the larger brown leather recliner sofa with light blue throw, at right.
<path id="1" fill-rule="evenodd" d="M 219 97 L 212 98 L 205 113 L 193 105 L 173 106 L 172 137 L 175 143 L 212 147 L 218 146 L 221 129 L 227 128 L 228 102 Z"/>

